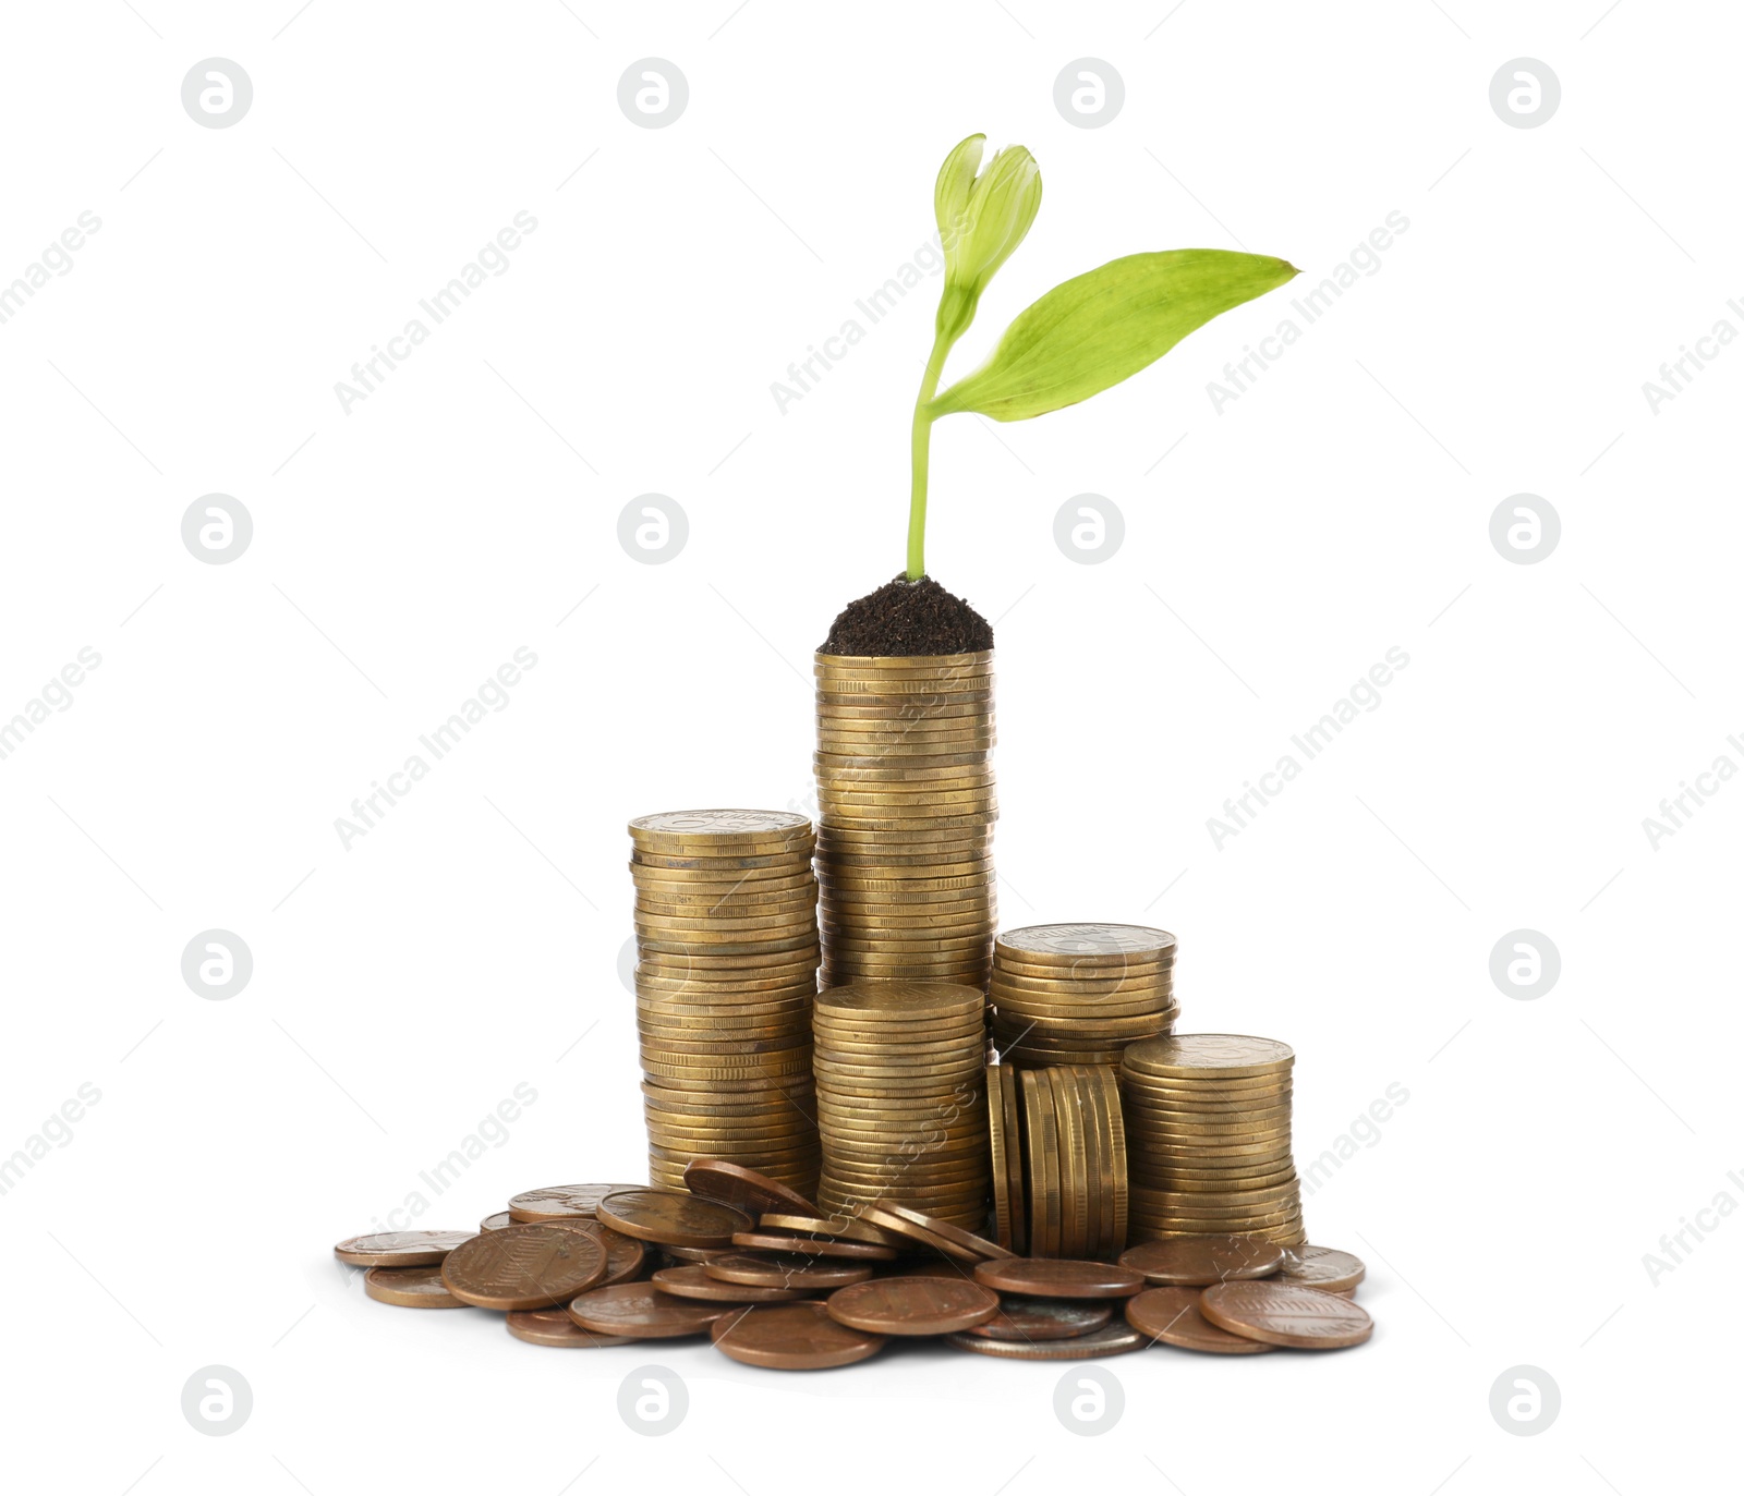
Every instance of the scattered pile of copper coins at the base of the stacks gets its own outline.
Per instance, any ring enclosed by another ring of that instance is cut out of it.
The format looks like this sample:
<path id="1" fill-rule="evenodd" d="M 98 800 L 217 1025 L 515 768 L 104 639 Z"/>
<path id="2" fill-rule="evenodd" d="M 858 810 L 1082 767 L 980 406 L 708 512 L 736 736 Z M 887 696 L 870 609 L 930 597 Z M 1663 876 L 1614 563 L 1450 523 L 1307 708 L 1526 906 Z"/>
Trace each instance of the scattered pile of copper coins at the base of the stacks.
<path id="1" fill-rule="evenodd" d="M 776 1370 L 851 1365 L 916 1339 L 1006 1360 L 1088 1360 L 1155 1344 L 1338 1350 L 1373 1332 L 1353 1302 L 1362 1262 L 1324 1247 L 1216 1236 L 1149 1241 L 1118 1264 L 1027 1259 L 889 1200 L 827 1221 L 731 1163 L 699 1159 L 687 1179 L 684 1191 L 528 1191 L 509 1214 L 539 1221 L 478 1236 L 389 1231 L 333 1252 L 368 1268 L 380 1302 L 494 1309 L 530 1344 L 708 1336 L 722 1355 Z"/>

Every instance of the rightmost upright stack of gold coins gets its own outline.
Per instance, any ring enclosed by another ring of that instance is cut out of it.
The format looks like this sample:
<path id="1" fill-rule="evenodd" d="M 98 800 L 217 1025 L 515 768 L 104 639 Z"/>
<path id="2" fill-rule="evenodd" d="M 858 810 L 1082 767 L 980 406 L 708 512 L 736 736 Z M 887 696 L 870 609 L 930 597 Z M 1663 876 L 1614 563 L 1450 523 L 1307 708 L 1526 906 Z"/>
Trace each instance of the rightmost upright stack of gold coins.
<path id="1" fill-rule="evenodd" d="M 1306 1240 L 1291 1158 L 1294 1062 L 1289 1044 L 1242 1034 L 1172 1034 L 1127 1046 L 1120 1086 L 1137 1240 Z"/>

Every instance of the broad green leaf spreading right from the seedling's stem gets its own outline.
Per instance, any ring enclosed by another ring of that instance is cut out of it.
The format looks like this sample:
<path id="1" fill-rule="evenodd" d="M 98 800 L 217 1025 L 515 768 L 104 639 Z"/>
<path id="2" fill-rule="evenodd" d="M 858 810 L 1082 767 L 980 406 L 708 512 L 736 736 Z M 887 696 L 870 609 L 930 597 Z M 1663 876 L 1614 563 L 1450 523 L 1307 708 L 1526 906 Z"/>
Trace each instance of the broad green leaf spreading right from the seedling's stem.
<path id="1" fill-rule="evenodd" d="M 1219 312 L 1299 274 L 1287 260 L 1233 249 L 1127 255 L 1055 286 L 1005 330 L 975 373 L 926 406 L 1029 420 L 1100 394 L 1156 363 Z"/>

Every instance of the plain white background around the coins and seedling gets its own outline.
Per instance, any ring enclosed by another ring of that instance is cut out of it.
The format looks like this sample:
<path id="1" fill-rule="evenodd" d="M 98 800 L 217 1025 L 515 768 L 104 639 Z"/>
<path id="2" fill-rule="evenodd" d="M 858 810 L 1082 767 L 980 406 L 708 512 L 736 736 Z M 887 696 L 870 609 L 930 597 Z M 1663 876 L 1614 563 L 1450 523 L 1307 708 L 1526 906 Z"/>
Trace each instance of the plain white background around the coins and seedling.
<path id="1" fill-rule="evenodd" d="M 101 1093 L 0 1196 L 21 1489 L 1720 1477 L 1744 1224 L 1657 1285 L 1643 1254 L 1744 1200 L 1744 788 L 1657 849 L 1641 821 L 1744 764 L 1744 350 L 1657 415 L 1641 385 L 1744 328 L 1737 16 L 295 5 L 7 7 L 0 279 L 101 220 L 0 326 L 0 717 L 101 656 L 0 762 L 0 1151 Z M 1523 56 L 1561 80 L 1536 129 L 1489 105 Z M 234 127 L 181 106 L 206 58 L 253 80 Z M 642 58 L 689 80 L 666 129 L 617 106 Z M 1055 110 L 1080 58 L 1125 80 L 1106 127 Z M 537 1100 L 419 1224 L 638 1177 L 623 826 L 807 800 L 809 652 L 902 563 L 937 281 L 785 413 L 769 385 L 926 242 L 970 131 L 1025 143 L 1046 199 L 956 371 L 1116 255 L 1306 272 L 1088 405 L 942 424 L 930 563 L 998 619 L 1005 921 L 1175 931 L 1182 1029 L 1296 1046 L 1303 1163 L 1409 1091 L 1306 1203 L 1369 1262 L 1373 1343 L 1114 1360 L 1125 1418 L 1081 1438 L 1055 1365 L 781 1377 L 364 1301 L 330 1243 L 516 1083 Z M 508 272 L 345 413 L 335 382 L 523 209 Z M 1395 209 L 1378 274 L 1217 413 L 1223 364 Z M 215 492 L 253 516 L 230 565 L 180 537 Z M 659 567 L 616 539 L 649 492 L 691 527 Z M 1102 565 L 1053 542 L 1085 492 L 1125 514 Z M 1563 523 L 1529 567 L 1488 534 L 1521 492 Z M 347 849 L 335 818 L 523 645 L 511 704 Z M 1207 818 L 1393 645 L 1383 704 L 1219 849 Z M 228 1001 L 180 973 L 211 928 L 253 952 Z M 1536 1001 L 1489 978 L 1517 928 L 1561 952 Z M 663 1438 L 617 1414 L 645 1362 L 691 1390 Z M 209 1363 L 253 1388 L 232 1437 L 180 1411 Z M 1561 1386 L 1540 1437 L 1489 1414 L 1516 1363 Z"/>

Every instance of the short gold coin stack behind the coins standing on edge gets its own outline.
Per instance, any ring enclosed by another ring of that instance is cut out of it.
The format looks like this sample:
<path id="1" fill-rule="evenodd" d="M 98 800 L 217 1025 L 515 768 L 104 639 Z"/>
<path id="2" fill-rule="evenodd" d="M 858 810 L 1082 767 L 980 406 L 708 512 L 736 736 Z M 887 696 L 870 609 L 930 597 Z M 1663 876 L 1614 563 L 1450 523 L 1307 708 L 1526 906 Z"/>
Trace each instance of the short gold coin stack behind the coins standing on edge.
<path id="1" fill-rule="evenodd" d="M 1142 924 L 1031 924 L 994 942 L 992 1041 L 1017 1065 L 1118 1065 L 1174 1030 L 1175 938 Z"/>

